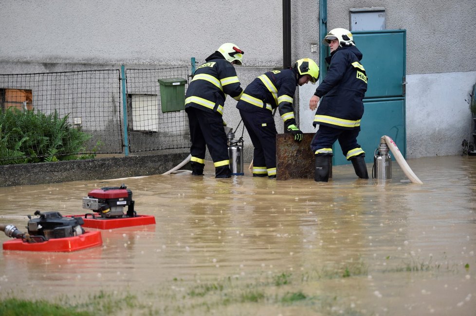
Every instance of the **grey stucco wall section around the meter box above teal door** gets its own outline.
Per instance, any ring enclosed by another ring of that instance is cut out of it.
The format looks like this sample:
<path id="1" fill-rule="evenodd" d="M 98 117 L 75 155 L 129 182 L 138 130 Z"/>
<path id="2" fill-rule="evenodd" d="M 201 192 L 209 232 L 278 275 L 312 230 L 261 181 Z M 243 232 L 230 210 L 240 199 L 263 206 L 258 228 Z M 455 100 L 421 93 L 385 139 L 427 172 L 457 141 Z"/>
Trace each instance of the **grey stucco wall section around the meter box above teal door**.
<path id="1" fill-rule="evenodd" d="M 387 29 L 407 30 L 407 74 L 476 70 L 474 0 L 328 0 L 327 27 L 349 28 L 349 10 L 370 7 L 385 9 Z"/>

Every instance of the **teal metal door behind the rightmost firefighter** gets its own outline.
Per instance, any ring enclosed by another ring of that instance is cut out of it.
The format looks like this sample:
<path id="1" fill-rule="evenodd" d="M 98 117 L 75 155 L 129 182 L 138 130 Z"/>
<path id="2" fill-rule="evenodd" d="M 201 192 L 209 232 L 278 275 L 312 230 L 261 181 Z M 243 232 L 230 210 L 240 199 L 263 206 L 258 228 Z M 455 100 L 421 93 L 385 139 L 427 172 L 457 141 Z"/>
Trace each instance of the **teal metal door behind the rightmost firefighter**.
<path id="1" fill-rule="evenodd" d="M 405 58 L 406 30 L 352 32 L 362 52 L 368 84 L 364 116 L 357 142 L 366 152 L 366 162 L 373 162 L 380 138 L 392 138 L 406 158 L 405 132 Z M 348 164 L 338 142 L 333 148 L 334 165 Z M 392 157 L 393 158 L 393 157 Z"/>

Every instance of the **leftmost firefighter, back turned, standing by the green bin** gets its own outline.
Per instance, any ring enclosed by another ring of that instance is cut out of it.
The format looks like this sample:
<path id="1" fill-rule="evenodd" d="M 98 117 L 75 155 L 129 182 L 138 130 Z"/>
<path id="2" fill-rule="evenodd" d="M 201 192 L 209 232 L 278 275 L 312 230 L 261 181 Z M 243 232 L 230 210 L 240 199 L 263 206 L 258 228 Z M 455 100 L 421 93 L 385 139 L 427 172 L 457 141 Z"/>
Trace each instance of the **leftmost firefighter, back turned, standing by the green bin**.
<path id="1" fill-rule="evenodd" d="M 239 100 L 240 86 L 234 65 L 241 65 L 243 51 L 225 43 L 197 68 L 185 95 L 185 112 L 190 126 L 192 175 L 203 175 L 205 150 L 212 157 L 215 177 L 231 177 L 228 146 L 223 122 L 226 94 Z"/>

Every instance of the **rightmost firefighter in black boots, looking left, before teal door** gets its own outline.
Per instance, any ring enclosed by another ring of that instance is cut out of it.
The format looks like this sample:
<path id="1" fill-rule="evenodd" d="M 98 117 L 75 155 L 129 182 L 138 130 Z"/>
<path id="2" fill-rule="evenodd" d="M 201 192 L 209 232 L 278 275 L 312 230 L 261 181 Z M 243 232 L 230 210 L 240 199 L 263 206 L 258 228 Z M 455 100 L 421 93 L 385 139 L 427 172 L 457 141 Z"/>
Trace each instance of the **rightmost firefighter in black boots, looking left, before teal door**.
<path id="1" fill-rule="evenodd" d="M 331 30 L 322 44 L 330 47 L 330 57 L 326 58 L 329 70 L 309 102 L 311 110 L 317 108 L 313 125 L 319 125 L 311 142 L 315 154 L 314 180 L 329 180 L 332 145 L 336 140 L 356 175 L 368 179 L 365 152 L 357 143 L 367 90 L 366 71 L 360 63 L 362 53 L 352 34 L 342 28 Z"/>

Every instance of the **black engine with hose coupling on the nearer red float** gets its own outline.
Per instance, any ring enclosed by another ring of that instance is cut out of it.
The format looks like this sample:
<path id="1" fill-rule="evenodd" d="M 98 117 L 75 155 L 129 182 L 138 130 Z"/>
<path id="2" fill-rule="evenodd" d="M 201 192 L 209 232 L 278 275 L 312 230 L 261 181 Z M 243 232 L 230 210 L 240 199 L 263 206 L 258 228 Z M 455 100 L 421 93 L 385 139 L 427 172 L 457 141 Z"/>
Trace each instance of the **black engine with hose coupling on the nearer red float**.
<path id="1" fill-rule="evenodd" d="M 28 215 L 30 220 L 26 227 L 27 233 L 18 230 L 15 225 L 0 225 L 0 230 L 4 231 L 8 237 L 23 239 L 28 243 L 40 243 L 84 233 L 84 229 L 81 227 L 84 222 L 80 217 L 63 217 L 57 211 L 44 213 L 36 211 L 34 215 L 38 215 L 38 217 L 32 218 L 31 215 Z"/>

